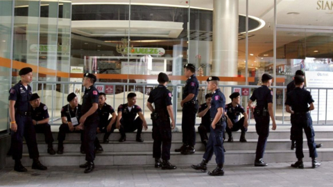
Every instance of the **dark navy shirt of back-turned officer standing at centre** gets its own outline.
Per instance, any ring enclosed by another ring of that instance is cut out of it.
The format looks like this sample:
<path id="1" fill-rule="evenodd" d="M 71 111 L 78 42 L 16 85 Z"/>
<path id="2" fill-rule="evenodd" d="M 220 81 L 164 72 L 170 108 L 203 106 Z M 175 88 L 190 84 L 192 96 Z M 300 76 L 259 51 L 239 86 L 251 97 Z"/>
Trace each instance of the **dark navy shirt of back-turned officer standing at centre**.
<path id="1" fill-rule="evenodd" d="M 172 94 L 167 87 L 164 85 L 158 85 L 157 88 L 153 89 L 149 94 L 148 102 L 155 104 L 155 112 L 158 114 L 164 114 L 169 117 L 167 106 L 172 105 L 171 103 Z"/>

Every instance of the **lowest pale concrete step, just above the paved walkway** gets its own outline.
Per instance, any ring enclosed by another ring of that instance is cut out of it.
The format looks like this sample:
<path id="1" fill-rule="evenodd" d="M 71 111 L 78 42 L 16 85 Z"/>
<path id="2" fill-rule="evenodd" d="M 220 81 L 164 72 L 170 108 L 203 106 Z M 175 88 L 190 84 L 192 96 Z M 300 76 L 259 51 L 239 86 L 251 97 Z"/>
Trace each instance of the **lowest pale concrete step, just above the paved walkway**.
<path id="1" fill-rule="evenodd" d="M 332 161 L 333 148 L 321 148 L 317 150 L 318 161 Z M 304 149 L 304 161 L 310 161 L 307 149 Z M 200 163 L 203 157 L 203 151 L 198 151 L 191 155 L 182 155 L 180 153 L 171 152 L 170 162 L 175 165 L 191 165 Z M 225 165 L 231 164 L 253 164 L 255 159 L 255 150 L 230 150 L 225 152 Z M 292 162 L 296 161 L 294 150 L 266 150 L 264 161 L 269 163 Z M 78 166 L 85 163 L 85 154 L 79 152 L 71 152 L 65 154 L 40 154 L 40 161 L 45 166 Z M 24 154 L 22 158 L 24 166 L 31 166 L 32 160 L 28 154 Z M 103 152 L 96 155 L 96 166 L 123 166 L 123 165 L 152 165 L 154 164 L 152 152 Z M 211 165 L 215 165 L 213 156 Z M 6 158 L 6 166 L 14 166 L 11 157 Z M 310 166 L 309 166 L 310 167 Z"/>

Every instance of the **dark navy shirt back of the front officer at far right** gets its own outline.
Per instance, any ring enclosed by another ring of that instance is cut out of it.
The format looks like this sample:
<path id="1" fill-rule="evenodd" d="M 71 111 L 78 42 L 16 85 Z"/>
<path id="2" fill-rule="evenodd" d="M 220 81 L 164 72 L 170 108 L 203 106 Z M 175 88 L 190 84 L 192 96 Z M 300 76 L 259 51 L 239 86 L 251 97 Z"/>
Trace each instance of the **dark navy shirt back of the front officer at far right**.
<path id="1" fill-rule="evenodd" d="M 293 112 L 308 112 L 308 104 L 311 103 L 314 103 L 314 100 L 310 92 L 298 87 L 287 94 L 285 105 L 291 106 Z"/>

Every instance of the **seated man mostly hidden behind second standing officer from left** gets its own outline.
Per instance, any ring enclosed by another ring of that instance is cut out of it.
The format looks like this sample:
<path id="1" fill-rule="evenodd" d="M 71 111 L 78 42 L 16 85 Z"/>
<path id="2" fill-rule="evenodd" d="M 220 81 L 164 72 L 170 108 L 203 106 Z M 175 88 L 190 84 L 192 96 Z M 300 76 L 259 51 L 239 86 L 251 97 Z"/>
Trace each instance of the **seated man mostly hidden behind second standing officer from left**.
<path id="1" fill-rule="evenodd" d="M 97 132 L 104 132 L 103 143 L 109 143 L 109 136 L 116 129 L 117 114 L 113 107 L 105 103 L 106 95 L 103 92 L 99 93 L 99 127 Z M 110 114 L 112 118 L 109 119 Z M 99 144 L 99 139 L 95 139 L 96 153 L 103 152 L 102 146 Z"/>

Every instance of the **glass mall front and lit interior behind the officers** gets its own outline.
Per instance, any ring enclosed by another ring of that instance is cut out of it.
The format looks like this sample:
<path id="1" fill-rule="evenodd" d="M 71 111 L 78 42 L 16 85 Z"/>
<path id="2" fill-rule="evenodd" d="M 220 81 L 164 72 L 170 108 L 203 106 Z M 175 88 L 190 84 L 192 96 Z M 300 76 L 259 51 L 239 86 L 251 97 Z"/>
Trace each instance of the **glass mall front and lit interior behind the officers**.
<path id="1" fill-rule="evenodd" d="M 55 130 L 67 104 L 64 98 L 84 92 L 84 73 L 96 75 L 99 91 L 116 108 L 130 91 L 144 107 L 157 74 L 167 73 L 180 125 L 182 67 L 187 63 L 203 70 L 197 73 L 203 89 L 210 75 L 219 76 L 226 98 L 239 88 L 242 105 L 261 84 L 262 74 L 271 74 L 275 116 L 279 124 L 290 125 L 284 114 L 285 86 L 297 70 L 332 72 L 332 48 L 333 1 L 2 0 L 0 168 L 12 164 L 6 163 L 8 96 L 26 66 L 33 69 L 31 87 L 48 106 Z M 313 92 L 321 103 L 315 125 L 333 124 L 330 85 L 307 84 L 321 87 Z"/>

